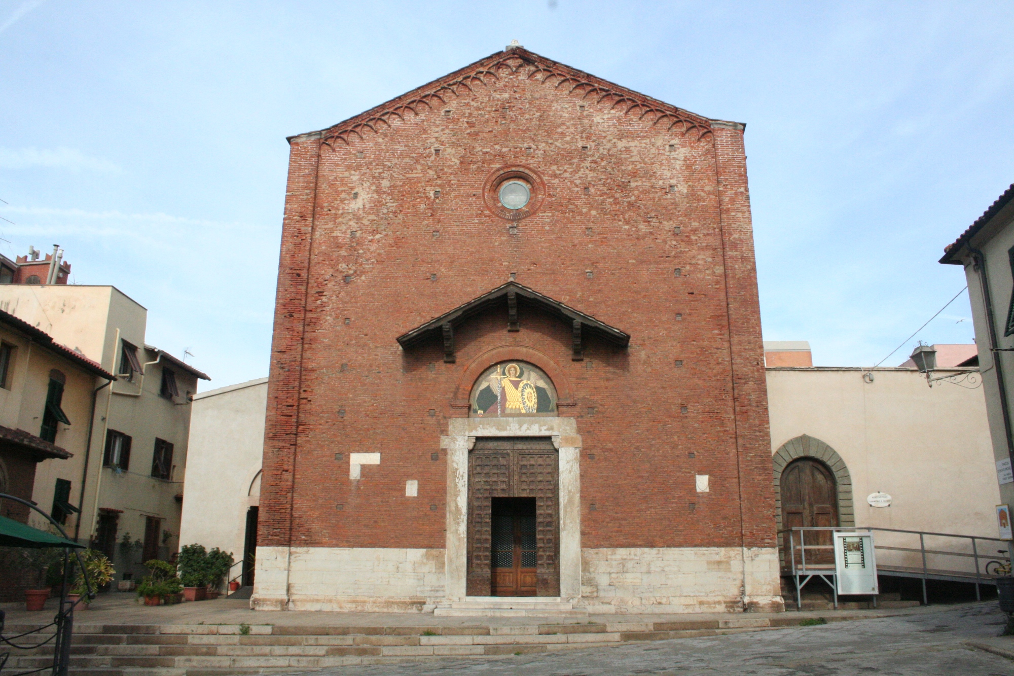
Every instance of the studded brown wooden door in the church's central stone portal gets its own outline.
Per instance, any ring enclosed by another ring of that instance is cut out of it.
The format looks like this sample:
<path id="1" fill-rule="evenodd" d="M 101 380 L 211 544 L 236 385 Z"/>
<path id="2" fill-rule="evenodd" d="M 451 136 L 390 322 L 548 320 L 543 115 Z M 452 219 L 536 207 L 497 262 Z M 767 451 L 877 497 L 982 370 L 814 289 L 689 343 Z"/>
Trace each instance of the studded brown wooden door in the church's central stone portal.
<path id="1" fill-rule="evenodd" d="M 549 437 L 468 454 L 468 596 L 559 596 L 559 457 Z"/>

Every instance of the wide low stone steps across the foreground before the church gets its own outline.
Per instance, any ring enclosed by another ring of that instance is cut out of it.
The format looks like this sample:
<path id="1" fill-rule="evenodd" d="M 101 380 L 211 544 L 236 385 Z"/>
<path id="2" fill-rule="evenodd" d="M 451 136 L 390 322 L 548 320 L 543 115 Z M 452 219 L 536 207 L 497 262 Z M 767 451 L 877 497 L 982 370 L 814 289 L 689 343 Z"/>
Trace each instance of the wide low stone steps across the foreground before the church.
<path id="1" fill-rule="evenodd" d="M 848 619 L 848 615 L 839 617 Z M 687 617 L 664 622 L 573 620 L 513 625 L 483 622 L 473 626 L 78 624 L 71 645 L 70 671 L 75 676 L 305 672 L 404 660 L 489 658 L 619 646 L 630 641 L 714 636 L 798 623 L 798 615 L 751 617 L 747 614 L 709 619 Z M 6 633 L 33 628 L 38 625 L 9 625 Z M 6 667 L 13 673 L 46 669 L 53 663 L 52 656 L 52 645 L 28 652 L 11 651 Z"/>

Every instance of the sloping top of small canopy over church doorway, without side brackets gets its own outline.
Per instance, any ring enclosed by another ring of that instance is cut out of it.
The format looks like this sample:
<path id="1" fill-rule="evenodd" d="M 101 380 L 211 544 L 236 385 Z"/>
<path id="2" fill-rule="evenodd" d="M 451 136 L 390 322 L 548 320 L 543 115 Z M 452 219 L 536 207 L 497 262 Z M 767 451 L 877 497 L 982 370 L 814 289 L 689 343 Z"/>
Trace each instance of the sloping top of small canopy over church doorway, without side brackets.
<path id="1" fill-rule="evenodd" d="M 457 308 L 444 313 L 440 317 L 430 320 L 426 324 L 418 326 L 415 329 L 402 334 L 396 338 L 396 340 L 403 349 L 412 347 L 413 345 L 421 343 L 433 336 L 443 335 L 444 325 L 450 325 L 452 327 L 456 326 L 473 315 L 477 315 L 488 308 L 495 307 L 504 300 L 508 303 L 510 322 L 514 323 L 516 322 L 516 315 L 510 310 L 512 297 L 515 298 L 515 302 L 517 298 L 523 298 L 525 302 L 531 303 L 532 306 L 535 306 L 536 308 L 539 308 L 540 310 L 570 323 L 575 331 L 577 331 L 578 326 L 580 326 L 581 332 L 587 330 L 591 334 L 597 335 L 598 337 L 614 345 L 619 345 L 620 347 L 627 347 L 630 344 L 631 337 L 629 333 L 611 327 L 604 322 L 599 322 L 591 315 L 585 315 L 582 312 L 565 306 L 559 300 L 554 300 L 548 295 L 542 295 L 534 289 L 513 281 L 497 286 L 492 291 L 473 298 L 468 302 L 458 306 Z"/>

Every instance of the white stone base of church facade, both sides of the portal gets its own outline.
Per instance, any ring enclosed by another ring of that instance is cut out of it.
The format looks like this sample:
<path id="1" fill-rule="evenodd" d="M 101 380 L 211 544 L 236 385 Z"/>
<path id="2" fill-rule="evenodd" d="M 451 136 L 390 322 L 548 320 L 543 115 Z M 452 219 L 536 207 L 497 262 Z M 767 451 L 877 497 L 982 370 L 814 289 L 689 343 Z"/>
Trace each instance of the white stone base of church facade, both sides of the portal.
<path id="1" fill-rule="evenodd" d="M 783 610 L 777 550 L 747 548 L 745 568 L 743 552 L 739 547 L 584 549 L 581 596 L 572 601 L 601 614 Z M 259 547 L 251 605 L 429 612 L 448 600 L 444 558 L 443 549 L 294 547 L 290 554 L 285 547 Z"/>

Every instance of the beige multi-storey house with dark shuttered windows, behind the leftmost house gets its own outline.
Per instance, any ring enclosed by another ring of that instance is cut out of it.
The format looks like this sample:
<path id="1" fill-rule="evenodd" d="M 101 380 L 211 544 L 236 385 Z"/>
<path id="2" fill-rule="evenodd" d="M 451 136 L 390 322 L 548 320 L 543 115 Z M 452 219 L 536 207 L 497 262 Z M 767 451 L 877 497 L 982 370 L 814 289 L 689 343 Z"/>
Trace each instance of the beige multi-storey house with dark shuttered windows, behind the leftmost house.
<path id="1" fill-rule="evenodd" d="M 118 377 L 95 395 L 70 534 L 94 542 L 121 579 L 167 558 L 178 547 L 190 398 L 208 377 L 145 344 L 147 311 L 114 286 L 3 284 L 0 310 Z"/>

